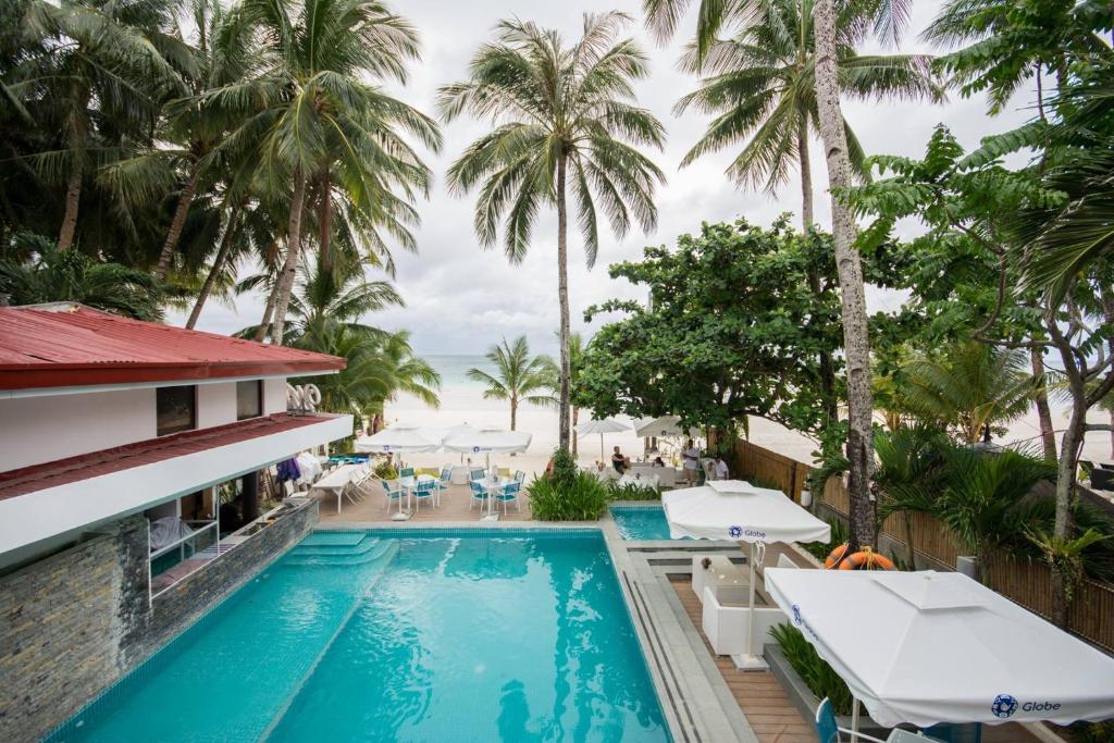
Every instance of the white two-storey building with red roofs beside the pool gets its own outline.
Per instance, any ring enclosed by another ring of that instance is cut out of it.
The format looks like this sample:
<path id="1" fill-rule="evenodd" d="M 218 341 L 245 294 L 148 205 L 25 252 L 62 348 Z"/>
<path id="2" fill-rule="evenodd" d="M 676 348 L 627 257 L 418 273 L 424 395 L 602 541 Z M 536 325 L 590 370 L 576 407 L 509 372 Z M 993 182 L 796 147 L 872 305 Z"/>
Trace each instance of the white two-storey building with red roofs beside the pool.
<path id="1" fill-rule="evenodd" d="M 74 303 L 0 307 L 0 569 L 133 514 L 221 531 L 218 487 L 255 490 L 352 433 L 287 411 L 289 378 L 344 364 Z"/>

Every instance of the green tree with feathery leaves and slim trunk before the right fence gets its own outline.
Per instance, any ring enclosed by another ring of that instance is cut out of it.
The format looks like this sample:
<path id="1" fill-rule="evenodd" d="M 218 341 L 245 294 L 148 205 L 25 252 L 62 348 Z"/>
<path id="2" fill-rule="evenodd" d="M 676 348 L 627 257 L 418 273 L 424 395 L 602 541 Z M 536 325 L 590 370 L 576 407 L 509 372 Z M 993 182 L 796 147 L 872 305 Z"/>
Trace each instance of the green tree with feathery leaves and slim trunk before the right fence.
<path id="1" fill-rule="evenodd" d="M 922 283 L 907 305 L 909 312 L 925 313 L 922 327 L 1056 359 L 1072 401 L 1057 459 L 1053 532 L 1066 544 L 1074 538 L 1083 436 L 1112 428 L 1088 423 L 1087 411 L 1114 390 L 1114 372 L 1097 353 L 1114 334 L 1114 267 L 1105 261 L 1084 266 L 1066 285 L 1063 301 L 1023 281 L 1029 245 L 1018 227 L 1026 215 L 1055 212 L 1065 194 L 1055 188 L 1055 177 L 1042 173 L 1039 162 L 1019 172 L 1001 165 L 1001 154 L 1016 141 L 1014 133 L 990 137 L 965 154 L 939 128 L 924 159 L 876 158 L 892 175 L 847 194 L 857 208 L 878 216 L 868 242 L 905 216 L 929 225 L 928 234 L 915 241 L 920 266 L 911 274 Z M 949 299 L 952 306 L 946 309 Z M 1053 576 L 1053 618 L 1063 627 L 1068 586 L 1064 575 Z"/>

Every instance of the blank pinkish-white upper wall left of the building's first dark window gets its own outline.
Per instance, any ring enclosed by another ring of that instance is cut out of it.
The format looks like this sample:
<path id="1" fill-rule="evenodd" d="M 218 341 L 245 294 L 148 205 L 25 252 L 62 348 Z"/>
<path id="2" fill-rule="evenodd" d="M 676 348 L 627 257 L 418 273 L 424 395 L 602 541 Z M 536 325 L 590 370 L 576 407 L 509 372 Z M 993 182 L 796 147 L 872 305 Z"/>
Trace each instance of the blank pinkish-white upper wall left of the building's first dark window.
<path id="1" fill-rule="evenodd" d="M 153 438 L 154 388 L 0 399 L 0 472 Z"/>

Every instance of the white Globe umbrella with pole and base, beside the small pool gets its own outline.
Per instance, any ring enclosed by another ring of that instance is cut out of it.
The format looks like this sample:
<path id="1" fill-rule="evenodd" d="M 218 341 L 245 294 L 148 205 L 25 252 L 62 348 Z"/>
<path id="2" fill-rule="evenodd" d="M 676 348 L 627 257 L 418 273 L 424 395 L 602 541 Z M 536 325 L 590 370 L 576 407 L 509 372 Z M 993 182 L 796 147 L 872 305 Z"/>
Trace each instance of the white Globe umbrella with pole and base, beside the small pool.
<path id="1" fill-rule="evenodd" d="M 755 488 L 742 480 L 713 480 L 698 488 L 662 493 L 670 537 L 731 539 L 747 545 L 750 566 L 750 626 L 743 668 L 765 668 L 754 653 L 754 568 L 771 542 L 828 541 L 831 527 L 780 490 Z"/>

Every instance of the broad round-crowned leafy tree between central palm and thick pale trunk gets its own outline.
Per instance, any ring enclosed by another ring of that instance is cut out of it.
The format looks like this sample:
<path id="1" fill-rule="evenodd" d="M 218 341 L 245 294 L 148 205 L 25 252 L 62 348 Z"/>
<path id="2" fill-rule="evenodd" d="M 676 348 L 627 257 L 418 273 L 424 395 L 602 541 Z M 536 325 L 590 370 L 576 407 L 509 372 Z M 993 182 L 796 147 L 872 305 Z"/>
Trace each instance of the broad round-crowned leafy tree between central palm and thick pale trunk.
<path id="1" fill-rule="evenodd" d="M 868 263 L 879 283 L 895 273 L 885 248 Z M 610 275 L 645 286 L 649 303 L 588 310 L 628 314 L 587 350 L 577 402 L 596 416 L 672 413 L 723 430 L 758 416 L 812 434 L 834 422 L 843 388 L 821 363 L 842 338 L 830 235 L 797 233 L 788 217 L 770 229 L 704 224 Z"/>

